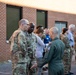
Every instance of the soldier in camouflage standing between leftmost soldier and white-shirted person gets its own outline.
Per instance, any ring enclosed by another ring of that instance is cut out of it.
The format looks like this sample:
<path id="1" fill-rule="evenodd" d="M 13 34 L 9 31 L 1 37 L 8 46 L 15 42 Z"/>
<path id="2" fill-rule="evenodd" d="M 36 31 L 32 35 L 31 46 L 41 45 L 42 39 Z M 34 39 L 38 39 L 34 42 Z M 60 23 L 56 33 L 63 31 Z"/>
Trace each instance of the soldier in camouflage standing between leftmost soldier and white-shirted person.
<path id="1" fill-rule="evenodd" d="M 33 33 L 34 31 L 34 24 L 29 24 L 29 29 L 27 33 L 27 44 L 28 44 L 28 56 L 30 58 L 30 64 L 29 64 L 29 75 L 36 75 L 36 68 L 30 69 L 33 64 L 36 63 L 36 57 L 35 57 L 35 51 L 36 51 L 36 36 Z"/>

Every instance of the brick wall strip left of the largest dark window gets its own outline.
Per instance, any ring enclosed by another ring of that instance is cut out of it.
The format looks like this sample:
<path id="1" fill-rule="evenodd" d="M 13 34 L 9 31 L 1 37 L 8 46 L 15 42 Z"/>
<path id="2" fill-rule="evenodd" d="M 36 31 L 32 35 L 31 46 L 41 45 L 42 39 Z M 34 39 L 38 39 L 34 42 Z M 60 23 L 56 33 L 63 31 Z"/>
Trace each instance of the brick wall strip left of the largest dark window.
<path id="1" fill-rule="evenodd" d="M 0 3 L 0 61 L 9 58 L 9 45 L 6 43 L 6 4 Z"/>

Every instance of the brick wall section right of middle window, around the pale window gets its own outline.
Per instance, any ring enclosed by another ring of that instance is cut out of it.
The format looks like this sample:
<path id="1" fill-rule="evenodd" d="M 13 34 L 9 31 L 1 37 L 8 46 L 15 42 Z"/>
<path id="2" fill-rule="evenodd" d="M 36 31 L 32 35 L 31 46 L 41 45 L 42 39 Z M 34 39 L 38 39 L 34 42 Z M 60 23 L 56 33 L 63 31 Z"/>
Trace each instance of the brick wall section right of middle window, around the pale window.
<path id="1" fill-rule="evenodd" d="M 66 21 L 68 26 L 70 24 L 76 25 L 76 15 L 69 13 L 60 13 L 48 11 L 48 27 L 52 27 L 55 25 L 55 21 Z"/>

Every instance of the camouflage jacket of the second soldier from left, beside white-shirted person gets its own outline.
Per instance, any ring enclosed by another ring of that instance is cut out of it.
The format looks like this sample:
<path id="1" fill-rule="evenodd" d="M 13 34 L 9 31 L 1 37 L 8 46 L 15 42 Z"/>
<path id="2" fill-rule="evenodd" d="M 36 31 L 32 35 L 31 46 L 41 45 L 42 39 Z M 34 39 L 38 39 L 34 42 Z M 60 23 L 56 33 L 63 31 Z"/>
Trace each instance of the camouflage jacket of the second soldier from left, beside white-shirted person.
<path id="1" fill-rule="evenodd" d="M 28 56 L 30 57 L 30 59 L 34 59 L 35 58 L 35 51 L 36 51 L 36 36 L 34 33 L 31 34 L 26 34 L 27 36 L 27 49 L 28 49 Z"/>

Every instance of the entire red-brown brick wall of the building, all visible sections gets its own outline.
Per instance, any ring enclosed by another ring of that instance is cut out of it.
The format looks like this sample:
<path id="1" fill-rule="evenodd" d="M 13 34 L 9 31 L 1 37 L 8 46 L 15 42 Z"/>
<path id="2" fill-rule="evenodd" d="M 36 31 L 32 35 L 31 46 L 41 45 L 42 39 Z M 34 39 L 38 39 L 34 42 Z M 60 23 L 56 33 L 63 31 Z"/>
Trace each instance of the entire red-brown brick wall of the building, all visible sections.
<path id="1" fill-rule="evenodd" d="M 23 7 L 23 18 L 36 24 L 36 9 Z M 76 25 L 76 15 L 48 11 L 48 27 L 55 25 L 55 21 L 67 21 L 68 25 Z M 6 43 L 6 4 L 0 3 L 0 61 L 10 59 L 10 46 Z"/>

